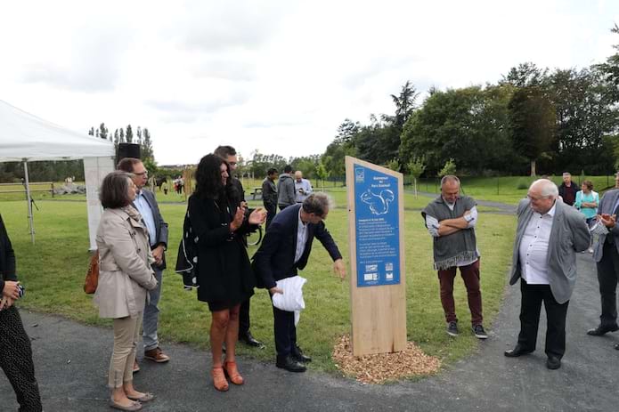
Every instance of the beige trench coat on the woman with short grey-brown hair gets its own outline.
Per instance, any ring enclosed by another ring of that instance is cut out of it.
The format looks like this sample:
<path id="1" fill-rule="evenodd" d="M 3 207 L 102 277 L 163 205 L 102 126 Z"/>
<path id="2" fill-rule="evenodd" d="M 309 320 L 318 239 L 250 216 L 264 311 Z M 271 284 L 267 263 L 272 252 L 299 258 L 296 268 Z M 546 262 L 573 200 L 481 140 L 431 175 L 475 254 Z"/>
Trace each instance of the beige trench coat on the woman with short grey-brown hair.
<path id="1" fill-rule="evenodd" d="M 144 310 L 147 290 L 157 287 L 146 229 L 122 209 L 106 209 L 96 236 L 99 285 L 94 304 L 101 318 L 136 316 Z"/>

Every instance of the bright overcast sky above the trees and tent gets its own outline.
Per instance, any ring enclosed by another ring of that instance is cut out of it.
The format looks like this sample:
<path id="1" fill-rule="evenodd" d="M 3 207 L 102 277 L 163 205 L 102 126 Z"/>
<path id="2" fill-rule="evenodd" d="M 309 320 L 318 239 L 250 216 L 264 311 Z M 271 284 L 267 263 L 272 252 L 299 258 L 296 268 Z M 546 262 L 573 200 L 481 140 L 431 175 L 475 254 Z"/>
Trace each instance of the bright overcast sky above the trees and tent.
<path id="1" fill-rule="evenodd" d="M 219 144 L 305 156 L 346 117 L 392 113 L 406 80 L 581 69 L 619 43 L 616 0 L 165 3 L 3 2 L 0 100 L 84 133 L 147 126 L 159 165 Z"/>

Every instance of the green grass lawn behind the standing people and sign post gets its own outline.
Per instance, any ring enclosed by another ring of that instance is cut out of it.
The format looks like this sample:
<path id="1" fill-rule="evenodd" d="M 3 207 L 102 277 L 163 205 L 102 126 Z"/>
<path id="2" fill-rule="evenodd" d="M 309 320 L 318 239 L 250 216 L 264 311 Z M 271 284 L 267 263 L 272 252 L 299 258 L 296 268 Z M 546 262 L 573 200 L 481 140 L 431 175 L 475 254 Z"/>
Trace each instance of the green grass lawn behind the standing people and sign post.
<path id="1" fill-rule="evenodd" d="M 331 211 L 327 226 L 347 260 L 346 193 L 333 192 L 338 208 Z M 466 289 L 456 282 L 455 295 L 458 317 L 463 329 L 453 339 L 444 332 L 444 315 L 438 292 L 436 272 L 432 270 L 431 238 L 419 215 L 418 207 L 428 198 L 415 199 L 405 195 L 405 250 L 407 285 L 407 326 L 411 341 L 424 351 L 436 355 L 447 364 L 461 359 L 476 349 L 476 338 L 466 327 L 470 315 Z M 40 201 L 35 212 L 37 241 L 30 243 L 27 208 L 23 200 L 0 202 L 13 247 L 18 259 L 18 275 L 27 287 L 21 307 L 60 314 L 88 324 L 110 325 L 98 318 L 92 296 L 85 295 L 82 286 L 88 266 L 86 204 L 84 202 Z M 164 274 L 160 303 L 159 336 L 166 341 L 190 343 L 207 350 L 210 314 L 207 305 L 197 301 L 195 292 L 183 290 L 181 277 L 174 268 L 181 234 L 185 206 L 182 203 L 162 204 L 162 214 L 170 225 L 168 269 Z M 515 219 L 509 215 L 482 214 L 477 238 L 482 254 L 482 291 L 486 326 L 490 325 L 501 304 L 506 284 Z M 249 250 L 253 254 L 254 249 Z M 308 279 L 304 288 L 306 310 L 298 325 L 299 343 L 311 354 L 311 368 L 334 371 L 330 358 L 339 335 L 349 332 L 348 280 L 339 281 L 332 274 L 329 255 L 316 244 L 310 262 L 301 273 Z M 349 273 L 350 276 L 350 273 Z M 273 312 L 265 290 L 257 289 L 252 298 L 251 330 L 265 341 L 265 350 L 240 347 L 240 354 L 273 361 Z M 207 354 L 205 353 L 205 356 Z"/>

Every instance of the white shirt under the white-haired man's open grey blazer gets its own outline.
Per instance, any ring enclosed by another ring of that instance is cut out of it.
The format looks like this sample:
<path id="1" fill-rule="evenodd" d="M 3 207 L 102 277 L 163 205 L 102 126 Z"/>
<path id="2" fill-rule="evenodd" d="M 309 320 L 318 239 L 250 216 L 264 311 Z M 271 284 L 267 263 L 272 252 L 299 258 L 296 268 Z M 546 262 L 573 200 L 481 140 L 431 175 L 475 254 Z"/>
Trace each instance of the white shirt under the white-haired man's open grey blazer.
<path id="1" fill-rule="evenodd" d="M 522 279 L 529 285 L 549 285 L 548 242 L 556 203 L 545 214 L 533 212 L 520 240 L 518 257 Z"/>

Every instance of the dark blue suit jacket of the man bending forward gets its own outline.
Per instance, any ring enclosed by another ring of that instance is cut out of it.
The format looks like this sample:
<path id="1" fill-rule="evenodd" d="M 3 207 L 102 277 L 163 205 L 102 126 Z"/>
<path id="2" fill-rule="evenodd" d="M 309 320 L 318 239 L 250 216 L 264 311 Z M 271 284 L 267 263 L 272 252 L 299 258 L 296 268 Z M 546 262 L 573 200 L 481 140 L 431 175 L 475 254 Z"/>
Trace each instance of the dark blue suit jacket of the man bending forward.
<path id="1" fill-rule="evenodd" d="M 301 258 L 295 263 L 297 251 L 298 211 L 301 205 L 288 206 L 275 215 L 271 226 L 266 231 L 265 239 L 253 257 L 254 273 L 257 275 L 258 287 L 270 289 L 280 279 L 297 275 L 303 270 L 312 251 L 312 242 L 317 238 L 322 243 L 331 259 L 341 259 L 338 246 L 331 238 L 324 222 L 307 223 L 307 241 Z"/>

